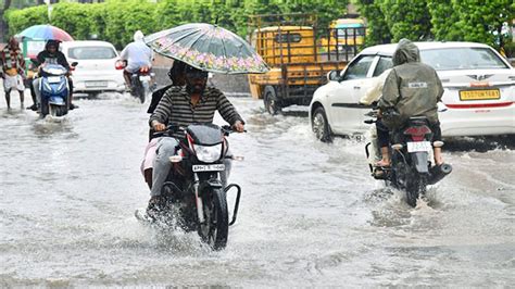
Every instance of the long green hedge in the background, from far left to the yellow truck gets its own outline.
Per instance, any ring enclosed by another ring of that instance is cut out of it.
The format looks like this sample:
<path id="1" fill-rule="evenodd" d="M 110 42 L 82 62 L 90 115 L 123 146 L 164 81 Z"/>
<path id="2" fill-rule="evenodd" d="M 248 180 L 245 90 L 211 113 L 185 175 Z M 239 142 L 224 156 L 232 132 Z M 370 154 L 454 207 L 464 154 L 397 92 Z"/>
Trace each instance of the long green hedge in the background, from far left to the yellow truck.
<path id="1" fill-rule="evenodd" d="M 249 15 L 315 13 L 318 27 L 328 27 L 346 12 L 348 0 L 108 0 L 103 3 L 53 4 L 50 24 L 63 28 L 75 39 L 97 35 L 117 48 L 130 42 L 136 30 L 150 34 L 180 24 L 204 22 L 217 24 L 246 36 Z M 11 34 L 32 25 L 49 23 L 47 7 L 12 10 L 5 15 Z"/>

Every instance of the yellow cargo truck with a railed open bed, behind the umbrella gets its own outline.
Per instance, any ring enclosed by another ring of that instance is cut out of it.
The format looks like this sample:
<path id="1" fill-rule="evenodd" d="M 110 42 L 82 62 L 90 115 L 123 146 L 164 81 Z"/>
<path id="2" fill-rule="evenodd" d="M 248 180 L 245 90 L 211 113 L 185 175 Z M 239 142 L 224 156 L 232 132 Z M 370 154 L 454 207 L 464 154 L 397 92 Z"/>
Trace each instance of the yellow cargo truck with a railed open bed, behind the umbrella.
<path id="1" fill-rule="evenodd" d="M 313 92 L 327 83 L 327 74 L 342 70 L 352 59 L 331 41 L 336 28 L 317 28 L 313 15 L 268 14 L 250 20 L 250 42 L 271 67 L 266 74 L 249 75 L 250 91 L 263 99 L 271 114 L 293 104 L 309 105 Z M 321 41 L 323 36 L 328 41 Z"/>

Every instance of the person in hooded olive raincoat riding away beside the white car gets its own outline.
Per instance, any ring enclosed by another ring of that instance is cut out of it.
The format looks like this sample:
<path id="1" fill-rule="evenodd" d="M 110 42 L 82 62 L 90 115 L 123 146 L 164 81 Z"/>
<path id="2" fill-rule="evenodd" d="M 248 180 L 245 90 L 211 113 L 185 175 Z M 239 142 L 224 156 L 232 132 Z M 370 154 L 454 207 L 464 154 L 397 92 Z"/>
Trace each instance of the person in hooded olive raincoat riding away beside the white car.
<path id="1" fill-rule="evenodd" d="M 382 120 L 377 129 L 395 130 L 412 116 L 426 116 L 434 133 L 435 164 L 443 164 L 441 155 L 441 129 L 438 105 L 443 87 L 437 72 L 420 62 L 418 48 L 407 39 L 401 39 L 393 52 L 393 68 L 388 74 L 379 100 Z M 389 166 L 388 134 L 378 134 L 382 160 L 377 166 Z"/>

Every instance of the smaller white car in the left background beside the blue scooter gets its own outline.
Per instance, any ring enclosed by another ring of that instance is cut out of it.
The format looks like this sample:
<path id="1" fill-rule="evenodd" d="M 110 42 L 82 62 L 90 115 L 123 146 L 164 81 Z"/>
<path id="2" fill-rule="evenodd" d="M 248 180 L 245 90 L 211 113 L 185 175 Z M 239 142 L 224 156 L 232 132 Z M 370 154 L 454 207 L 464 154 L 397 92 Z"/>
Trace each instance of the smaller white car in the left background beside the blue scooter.
<path id="1" fill-rule="evenodd" d="M 110 42 L 66 41 L 61 43 L 61 51 L 68 63 L 78 63 L 72 73 L 74 93 L 125 90 L 123 71 L 115 67 L 118 52 Z"/>

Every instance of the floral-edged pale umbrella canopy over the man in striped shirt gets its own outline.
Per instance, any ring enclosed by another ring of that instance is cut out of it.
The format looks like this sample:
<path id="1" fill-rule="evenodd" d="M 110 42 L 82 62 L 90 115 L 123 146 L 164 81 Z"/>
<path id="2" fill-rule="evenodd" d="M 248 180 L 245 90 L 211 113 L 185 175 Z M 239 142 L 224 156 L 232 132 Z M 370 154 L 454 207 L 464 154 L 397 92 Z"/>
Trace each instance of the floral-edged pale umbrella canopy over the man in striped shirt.
<path id="1" fill-rule="evenodd" d="M 185 24 L 145 38 L 155 52 L 199 70 L 225 73 L 265 73 L 263 59 L 241 37 L 204 23 Z"/>

